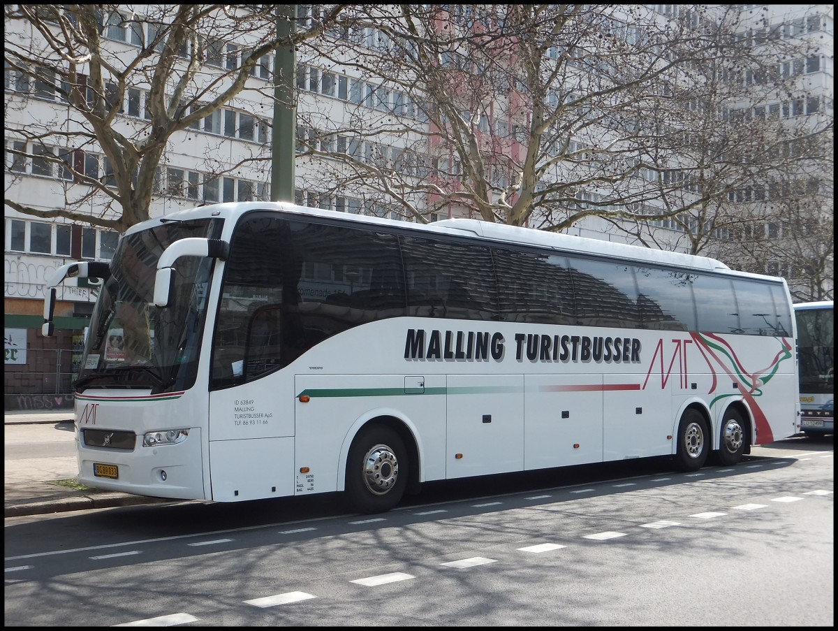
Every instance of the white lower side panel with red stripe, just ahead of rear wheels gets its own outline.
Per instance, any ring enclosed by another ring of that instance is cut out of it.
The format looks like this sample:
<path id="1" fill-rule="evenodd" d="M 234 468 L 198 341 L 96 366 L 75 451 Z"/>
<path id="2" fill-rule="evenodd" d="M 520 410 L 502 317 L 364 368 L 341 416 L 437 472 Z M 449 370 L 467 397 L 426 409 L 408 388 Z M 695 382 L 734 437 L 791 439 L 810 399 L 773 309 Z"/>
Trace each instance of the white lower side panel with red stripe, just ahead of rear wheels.
<path id="1" fill-rule="evenodd" d="M 643 374 L 603 376 L 603 428 L 606 461 L 664 456 L 672 451 L 672 383 Z"/>

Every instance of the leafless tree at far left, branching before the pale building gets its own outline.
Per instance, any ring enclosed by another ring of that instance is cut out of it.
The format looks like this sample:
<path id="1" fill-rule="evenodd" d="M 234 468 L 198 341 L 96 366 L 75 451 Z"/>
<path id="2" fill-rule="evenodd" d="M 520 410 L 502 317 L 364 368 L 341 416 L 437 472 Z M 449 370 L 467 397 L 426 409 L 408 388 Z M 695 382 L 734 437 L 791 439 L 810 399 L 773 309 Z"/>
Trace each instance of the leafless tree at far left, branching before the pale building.
<path id="1" fill-rule="evenodd" d="M 320 37 L 342 10 L 334 5 L 283 41 L 276 5 L 7 5 L 4 60 L 13 90 L 57 105 L 49 119 L 14 124 L 7 117 L 7 138 L 18 139 L 8 149 L 12 171 L 26 160 L 59 169 L 64 203 L 44 209 L 7 195 L 6 205 L 118 232 L 147 219 L 167 151 L 256 89 L 248 80 L 267 54 Z M 119 116 L 141 91 L 142 115 L 137 102 L 134 116 Z M 28 100 L 12 95 L 6 105 L 27 107 Z M 97 152 L 104 165 L 85 168 L 85 156 Z"/>

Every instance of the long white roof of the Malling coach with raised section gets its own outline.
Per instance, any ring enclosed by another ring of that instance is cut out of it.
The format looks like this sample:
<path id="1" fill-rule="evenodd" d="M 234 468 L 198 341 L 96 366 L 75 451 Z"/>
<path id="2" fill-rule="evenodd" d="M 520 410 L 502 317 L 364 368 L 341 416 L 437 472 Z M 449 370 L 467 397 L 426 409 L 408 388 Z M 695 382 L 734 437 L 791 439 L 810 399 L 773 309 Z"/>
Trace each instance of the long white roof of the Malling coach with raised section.
<path id="1" fill-rule="evenodd" d="M 436 232 L 448 235 L 462 235 L 468 232 L 471 235 L 488 239 L 495 242 L 517 243 L 521 245 L 535 245 L 542 248 L 552 248 L 562 253 L 599 254 L 606 257 L 631 260 L 642 263 L 660 263 L 680 268 L 701 269 L 706 271 L 721 271 L 738 276 L 752 278 L 773 279 L 775 277 L 763 274 L 750 274 L 739 272 L 727 267 L 725 263 L 694 254 L 680 252 L 669 252 L 644 248 L 641 246 L 629 245 L 628 243 L 615 243 L 601 239 L 586 237 L 575 237 L 569 234 L 546 232 L 534 228 L 507 226 L 499 223 L 484 222 L 478 219 L 444 219 L 429 224 L 414 222 L 401 222 L 395 219 L 386 219 L 376 216 L 354 215 L 346 212 L 323 210 L 320 208 L 308 208 L 297 206 L 287 202 L 277 201 L 246 201 L 230 202 L 224 204 L 213 204 L 198 206 L 183 211 L 176 211 L 163 217 L 150 219 L 147 222 L 139 223 L 126 231 L 126 234 L 137 232 L 148 227 L 159 225 L 160 222 L 186 221 L 203 217 L 220 217 L 225 219 L 236 219 L 243 213 L 249 211 L 286 211 L 292 214 L 305 216 L 328 217 L 338 219 L 342 222 L 357 222 L 366 225 L 380 225 L 396 227 L 417 232 Z"/>

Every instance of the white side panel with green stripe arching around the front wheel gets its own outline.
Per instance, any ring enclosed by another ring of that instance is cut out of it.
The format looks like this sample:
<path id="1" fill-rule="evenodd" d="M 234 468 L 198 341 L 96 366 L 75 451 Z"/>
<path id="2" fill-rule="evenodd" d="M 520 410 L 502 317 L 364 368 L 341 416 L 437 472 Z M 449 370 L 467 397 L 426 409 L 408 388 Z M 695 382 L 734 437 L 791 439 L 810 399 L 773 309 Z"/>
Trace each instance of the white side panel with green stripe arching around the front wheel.
<path id="1" fill-rule="evenodd" d="M 445 478 L 445 375 L 296 375 L 297 495 L 344 488 L 346 451 L 366 421 L 390 415 L 416 428 L 422 481 Z M 419 384 L 422 384 L 420 387 Z M 299 400 L 301 394 L 308 402 Z"/>

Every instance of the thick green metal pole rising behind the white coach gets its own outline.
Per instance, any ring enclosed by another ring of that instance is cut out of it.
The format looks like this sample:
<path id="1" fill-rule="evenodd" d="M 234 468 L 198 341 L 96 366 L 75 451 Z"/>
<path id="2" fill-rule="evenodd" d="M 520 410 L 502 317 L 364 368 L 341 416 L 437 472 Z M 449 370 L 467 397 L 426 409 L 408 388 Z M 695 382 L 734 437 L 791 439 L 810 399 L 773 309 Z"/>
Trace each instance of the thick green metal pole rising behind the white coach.
<path id="1" fill-rule="evenodd" d="M 296 4 L 277 5 L 277 39 L 294 32 Z M 273 69 L 273 154 L 271 159 L 271 200 L 294 201 L 294 162 L 297 144 L 297 102 L 294 84 L 297 76 L 294 46 L 277 48 Z"/>

